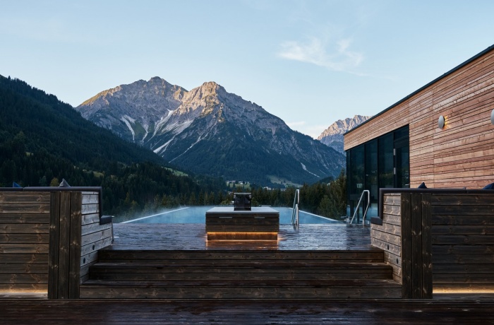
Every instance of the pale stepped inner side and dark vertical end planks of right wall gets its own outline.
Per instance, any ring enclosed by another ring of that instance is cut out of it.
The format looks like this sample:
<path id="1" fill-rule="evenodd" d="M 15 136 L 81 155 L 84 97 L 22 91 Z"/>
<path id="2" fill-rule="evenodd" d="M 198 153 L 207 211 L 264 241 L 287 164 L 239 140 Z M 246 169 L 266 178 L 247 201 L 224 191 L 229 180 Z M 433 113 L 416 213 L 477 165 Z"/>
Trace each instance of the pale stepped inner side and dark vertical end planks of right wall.
<path id="1" fill-rule="evenodd" d="M 430 194 L 386 194 L 382 215 L 382 225 L 370 226 L 370 243 L 384 251 L 402 297 L 432 298 Z"/>

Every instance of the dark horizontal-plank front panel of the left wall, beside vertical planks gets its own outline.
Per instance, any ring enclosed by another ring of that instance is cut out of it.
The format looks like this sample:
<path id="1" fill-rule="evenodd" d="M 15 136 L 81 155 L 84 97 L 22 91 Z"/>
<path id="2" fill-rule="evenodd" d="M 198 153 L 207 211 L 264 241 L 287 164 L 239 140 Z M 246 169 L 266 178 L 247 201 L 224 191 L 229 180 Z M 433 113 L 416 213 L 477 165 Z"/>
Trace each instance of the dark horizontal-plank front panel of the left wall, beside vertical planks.
<path id="1" fill-rule="evenodd" d="M 0 191 L 0 291 L 47 292 L 49 193 Z"/>

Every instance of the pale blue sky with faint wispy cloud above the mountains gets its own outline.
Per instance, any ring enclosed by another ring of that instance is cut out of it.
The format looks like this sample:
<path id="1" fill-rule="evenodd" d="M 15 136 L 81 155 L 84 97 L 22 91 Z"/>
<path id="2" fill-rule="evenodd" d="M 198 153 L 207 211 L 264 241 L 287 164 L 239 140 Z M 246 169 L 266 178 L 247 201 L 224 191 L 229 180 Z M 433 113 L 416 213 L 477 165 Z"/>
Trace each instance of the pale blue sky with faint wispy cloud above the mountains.
<path id="1" fill-rule="evenodd" d="M 0 75 L 76 107 L 215 81 L 317 138 L 494 45 L 491 0 L 0 0 Z"/>

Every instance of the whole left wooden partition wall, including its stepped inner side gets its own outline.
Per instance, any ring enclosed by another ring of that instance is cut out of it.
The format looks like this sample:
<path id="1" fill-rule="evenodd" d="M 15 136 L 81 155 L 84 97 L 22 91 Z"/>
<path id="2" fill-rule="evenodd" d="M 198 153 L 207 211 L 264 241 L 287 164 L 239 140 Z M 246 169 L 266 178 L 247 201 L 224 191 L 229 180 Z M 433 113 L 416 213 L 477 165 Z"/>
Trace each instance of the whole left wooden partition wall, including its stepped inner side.
<path id="1" fill-rule="evenodd" d="M 100 187 L 0 189 L 0 292 L 78 298 L 97 250 L 112 243 Z"/>

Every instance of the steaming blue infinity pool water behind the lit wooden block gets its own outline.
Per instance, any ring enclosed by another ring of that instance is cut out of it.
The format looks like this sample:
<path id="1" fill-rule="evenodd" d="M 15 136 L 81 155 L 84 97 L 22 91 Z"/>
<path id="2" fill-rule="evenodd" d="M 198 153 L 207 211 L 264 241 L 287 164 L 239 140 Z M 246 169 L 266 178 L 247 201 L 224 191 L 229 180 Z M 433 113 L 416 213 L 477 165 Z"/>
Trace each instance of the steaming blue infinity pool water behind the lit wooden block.
<path id="1" fill-rule="evenodd" d="M 206 223 L 206 211 L 212 206 L 190 206 L 176 208 L 123 223 Z M 291 208 L 274 208 L 279 211 L 279 223 L 291 223 Z M 341 223 L 337 220 L 321 217 L 308 212 L 299 212 L 299 223 Z"/>

